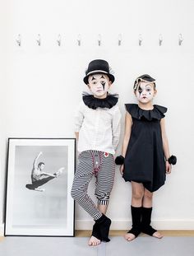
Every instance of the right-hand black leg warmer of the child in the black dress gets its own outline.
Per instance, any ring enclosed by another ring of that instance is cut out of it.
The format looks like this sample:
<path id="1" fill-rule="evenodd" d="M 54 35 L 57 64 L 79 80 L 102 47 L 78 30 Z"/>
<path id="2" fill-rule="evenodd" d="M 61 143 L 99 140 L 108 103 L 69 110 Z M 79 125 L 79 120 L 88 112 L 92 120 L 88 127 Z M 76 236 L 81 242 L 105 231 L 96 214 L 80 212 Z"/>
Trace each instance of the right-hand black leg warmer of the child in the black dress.
<path id="1" fill-rule="evenodd" d="M 157 230 L 150 226 L 152 207 L 142 207 L 141 231 L 147 235 L 153 235 Z"/>

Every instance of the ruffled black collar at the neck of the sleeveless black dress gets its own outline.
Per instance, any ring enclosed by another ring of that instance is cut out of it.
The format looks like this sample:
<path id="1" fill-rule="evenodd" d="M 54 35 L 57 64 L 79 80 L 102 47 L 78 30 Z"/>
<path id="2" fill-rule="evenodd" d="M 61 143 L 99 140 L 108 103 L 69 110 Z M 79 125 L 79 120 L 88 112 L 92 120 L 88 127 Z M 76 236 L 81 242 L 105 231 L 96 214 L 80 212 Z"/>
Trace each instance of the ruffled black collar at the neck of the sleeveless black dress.
<path id="1" fill-rule="evenodd" d="M 133 118 L 146 119 L 148 121 L 152 119 L 163 119 L 165 116 L 164 113 L 167 111 L 167 108 L 160 105 L 154 105 L 154 109 L 151 110 L 141 109 L 137 104 L 126 104 L 125 106 Z"/>

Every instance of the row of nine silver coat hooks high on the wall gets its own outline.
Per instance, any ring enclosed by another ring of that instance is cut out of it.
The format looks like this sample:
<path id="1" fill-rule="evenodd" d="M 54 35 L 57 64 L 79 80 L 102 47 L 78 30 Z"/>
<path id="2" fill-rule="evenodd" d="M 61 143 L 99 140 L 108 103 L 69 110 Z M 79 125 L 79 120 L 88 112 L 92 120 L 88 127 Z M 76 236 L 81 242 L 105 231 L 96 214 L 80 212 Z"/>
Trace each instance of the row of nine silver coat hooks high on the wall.
<path id="1" fill-rule="evenodd" d="M 182 45 L 182 40 L 183 40 L 183 37 L 182 37 L 182 34 L 179 34 L 178 35 L 178 45 Z M 77 36 L 77 45 L 78 46 L 81 46 L 81 35 L 79 34 Z M 162 34 L 159 34 L 159 46 L 161 46 L 163 44 L 163 35 Z M 138 44 L 139 46 L 141 46 L 143 43 L 143 36 L 141 34 L 139 34 L 139 38 L 138 38 Z M 41 38 L 41 35 L 38 34 L 37 35 L 37 38 L 36 38 L 36 44 L 38 44 L 39 46 L 41 45 L 42 43 L 42 38 Z M 62 45 L 62 35 L 59 34 L 58 35 L 58 38 L 56 40 L 56 43 L 58 44 L 58 46 L 61 46 Z M 19 34 L 16 38 L 16 44 L 18 44 L 18 46 L 21 46 L 21 34 Z M 98 35 L 98 38 L 97 38 L 97 44 L 100 46 L 102 44 L 102 35 Z M 120 46 L 122 44 L 122 34 L 119 34 L 118 35 L 118 46 Z"/>

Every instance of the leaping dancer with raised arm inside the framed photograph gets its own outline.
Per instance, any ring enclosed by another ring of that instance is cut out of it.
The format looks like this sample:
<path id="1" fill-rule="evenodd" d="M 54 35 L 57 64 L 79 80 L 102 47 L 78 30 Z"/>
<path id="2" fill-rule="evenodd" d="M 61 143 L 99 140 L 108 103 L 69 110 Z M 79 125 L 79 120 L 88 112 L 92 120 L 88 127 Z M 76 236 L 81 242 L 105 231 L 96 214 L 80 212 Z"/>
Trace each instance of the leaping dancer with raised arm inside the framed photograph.
<path id="1" fill-rule="evenodd" d="M 27 189 L 31 189 L 39 192 L 44 192 L 45 190 L 43 188 L 39 188 L 40 186 L 48 183 L 48 181 L 51 179 L 58 178 L 58 176 L 62 174 L 62 170 L 64 170 L 64 167 L 62 167 L 53 174 L 44 172 L 44 162 L 39 162 L 38 164 L 39 156 L 41 156 L 42 154 L 43 153 L 40 151 L 39 155 L 35 157 L 35 160 L 33 162 L 33 167 L 31 171 L 32 184 L 25 185 Z"/>

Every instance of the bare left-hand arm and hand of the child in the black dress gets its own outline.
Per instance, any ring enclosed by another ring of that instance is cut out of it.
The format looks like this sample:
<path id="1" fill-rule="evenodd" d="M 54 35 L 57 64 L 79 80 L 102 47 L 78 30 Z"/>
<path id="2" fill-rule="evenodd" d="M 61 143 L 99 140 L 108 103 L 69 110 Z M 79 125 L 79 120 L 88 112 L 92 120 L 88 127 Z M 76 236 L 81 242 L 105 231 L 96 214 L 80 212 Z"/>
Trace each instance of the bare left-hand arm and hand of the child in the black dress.
<path id="1" fill-rule="evenodd" d="M 126 156 L 129 139 L 132 133 L 132 116 L 128 112 L 125 115 L 125 133 L 122 141 L 122 156 Z M 121 175 L 123 174 L 123 165 L 120 167 Z"/>

